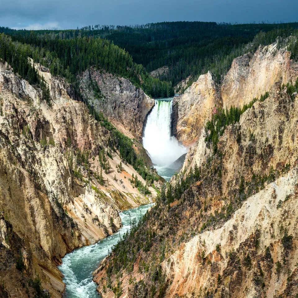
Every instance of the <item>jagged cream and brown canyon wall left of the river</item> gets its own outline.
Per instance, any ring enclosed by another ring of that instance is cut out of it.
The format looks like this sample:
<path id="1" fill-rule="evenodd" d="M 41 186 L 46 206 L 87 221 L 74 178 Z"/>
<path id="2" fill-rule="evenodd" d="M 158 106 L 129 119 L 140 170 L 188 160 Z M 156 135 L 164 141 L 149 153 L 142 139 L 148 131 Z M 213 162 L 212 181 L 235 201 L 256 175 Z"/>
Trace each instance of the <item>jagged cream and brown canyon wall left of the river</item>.
<path id="1" fill-rule="evenodd" d="M 0 279 L 8 297 L 34 296 L 30 278 L 37 275 L 61 297 L 61 257 L 115 232 L 119 210 L 156 195 L 150 187 L 145 197 L 130 183 L 138 175 L 131 165 L 119 170 L 119 152 L 108 152 L 110 132 L 71 86 L 35 67 L 49 86 L 47 102 L 7 65 L 0 70 Z M 100 177 L 102 160 L 110 167 Z"/>

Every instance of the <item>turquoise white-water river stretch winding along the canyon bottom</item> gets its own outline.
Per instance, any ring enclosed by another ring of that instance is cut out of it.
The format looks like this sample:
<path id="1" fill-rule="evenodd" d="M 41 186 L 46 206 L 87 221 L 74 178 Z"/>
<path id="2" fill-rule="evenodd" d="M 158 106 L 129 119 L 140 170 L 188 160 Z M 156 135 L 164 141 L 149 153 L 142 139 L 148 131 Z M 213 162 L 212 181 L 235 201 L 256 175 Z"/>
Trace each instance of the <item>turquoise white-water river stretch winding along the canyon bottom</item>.
<path id="1" fill-rule="evenodd" d="M 100 262 L 106 257 L 108 251 L 117 244 L 120 237 L 130 230 L 130 221 L 138 222 L 154 203 L 142 205 L 137 208 L 125 210 L 120 213 L 123 227 L 113 235 L 89 246 L 84 246 L 66 254 L 62 259 L 59 270 L 63 273 L 63 282 L 66 284 L 64 297 L 66 298 L 98 298 L 96 283 L 92 281 L 92 272 L 97 269 Z"/>

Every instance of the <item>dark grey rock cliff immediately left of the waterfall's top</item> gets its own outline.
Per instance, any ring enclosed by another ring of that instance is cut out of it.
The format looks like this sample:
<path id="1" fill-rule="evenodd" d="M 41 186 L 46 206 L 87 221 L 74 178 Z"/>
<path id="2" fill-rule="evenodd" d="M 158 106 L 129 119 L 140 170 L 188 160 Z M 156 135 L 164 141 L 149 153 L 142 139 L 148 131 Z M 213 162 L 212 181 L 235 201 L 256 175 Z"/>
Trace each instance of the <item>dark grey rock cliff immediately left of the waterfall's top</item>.
<path id="1" fill-rule="evenodd" d="M 154 100 L 128 79 L 103 70 L 86 70 L 80 78 L 84 99 L 123 133 L 142 140 L 143 124 Z"/>

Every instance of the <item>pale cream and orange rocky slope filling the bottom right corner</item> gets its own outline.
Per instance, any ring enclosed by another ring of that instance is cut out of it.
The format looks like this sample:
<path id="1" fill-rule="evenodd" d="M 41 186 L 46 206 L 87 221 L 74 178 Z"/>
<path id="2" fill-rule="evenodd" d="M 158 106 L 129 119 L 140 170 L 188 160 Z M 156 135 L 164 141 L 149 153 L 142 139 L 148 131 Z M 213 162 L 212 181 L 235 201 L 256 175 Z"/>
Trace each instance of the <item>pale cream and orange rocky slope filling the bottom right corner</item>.
<path id="1" fill-rule="evenodd" d="M 196 235 L 170 255 L 162 263 L 172 281 L 166 297 L 191 297 L 189 293 L 199 295 L 205 288 L 214 297 L 295 295 L 298 251 L 294 248 L 285 252 L 284 231 L 280 228 L 297 237 L 297 212 L 293 211 L 298 207 L 294 195 L 297 178 L 295 168 L 248 198 L 221 228 Z M 282 207 L 277 209 L 278 202 Z M 291 243 L 295 245 L 296 240 Z M 207 261 L 201 257 L 203 254 Z M 276 264 L 285 254 L 286 264 L 277 274 Z M 291 272 L 291 283 L 286 282 L 287 272 Z"/>

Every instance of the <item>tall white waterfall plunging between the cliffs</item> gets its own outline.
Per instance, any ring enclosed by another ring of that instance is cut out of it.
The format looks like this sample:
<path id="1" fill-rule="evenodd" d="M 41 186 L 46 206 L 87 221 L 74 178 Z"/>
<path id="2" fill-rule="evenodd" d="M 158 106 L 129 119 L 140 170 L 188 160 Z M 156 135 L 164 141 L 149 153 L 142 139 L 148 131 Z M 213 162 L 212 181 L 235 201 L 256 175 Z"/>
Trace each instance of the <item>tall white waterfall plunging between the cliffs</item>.
<path id="1" fill-rule="evenodd" d="M 158 166 L 169 166 L 187 152 L 187 148 L 171 136 L 172 107 L 172 98 L 156 99 L 144 129 L 143 146 Z"/>

